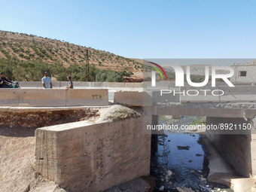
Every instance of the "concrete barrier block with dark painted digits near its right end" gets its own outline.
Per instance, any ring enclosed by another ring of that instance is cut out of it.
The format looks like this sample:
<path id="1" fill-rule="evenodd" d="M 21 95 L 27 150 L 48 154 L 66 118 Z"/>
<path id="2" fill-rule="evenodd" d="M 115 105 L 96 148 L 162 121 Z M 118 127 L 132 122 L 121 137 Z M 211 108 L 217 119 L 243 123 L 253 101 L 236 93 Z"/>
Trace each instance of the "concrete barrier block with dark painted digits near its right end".
<path id="1" fill-rule="evenodd" d="M 74 89 L 66 91 L 66 106 L 108 105 L 106 89 Z"/>

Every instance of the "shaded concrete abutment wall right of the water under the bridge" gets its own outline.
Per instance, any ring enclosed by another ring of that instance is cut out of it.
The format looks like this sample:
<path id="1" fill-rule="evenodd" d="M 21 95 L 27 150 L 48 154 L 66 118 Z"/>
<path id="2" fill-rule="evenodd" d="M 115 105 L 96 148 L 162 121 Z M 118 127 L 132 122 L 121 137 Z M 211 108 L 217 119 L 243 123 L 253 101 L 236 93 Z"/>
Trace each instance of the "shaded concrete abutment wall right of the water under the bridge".
<path id="1" fill-rule="evenodd" d="M 242 123 L 251 123 L 243 118 L 206 117 L 206 124 L 232 123 L 239 127 Z M 252 128 L 254 129 L 254 128 Z M 248 132 L 248 131 L 247 131 Z M 247 134 L 214 134 L 207 130 L 206 134 L 220 154 L 244 177 L 256 173 L 256 140 L 249 131 Z M 236 133 L 233 131 L 232 133 Z"/>

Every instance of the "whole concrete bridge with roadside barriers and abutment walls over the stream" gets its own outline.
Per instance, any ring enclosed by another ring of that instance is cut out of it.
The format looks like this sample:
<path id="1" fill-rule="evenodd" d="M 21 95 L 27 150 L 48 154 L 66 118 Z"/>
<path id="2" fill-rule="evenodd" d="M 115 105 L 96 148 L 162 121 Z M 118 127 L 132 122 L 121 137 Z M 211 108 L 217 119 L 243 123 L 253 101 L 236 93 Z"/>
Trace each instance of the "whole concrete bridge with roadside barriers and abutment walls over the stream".
<path id="1" fill-rule="evenodd" d="M 52 90 L 39 88 L 39 83 L 37 87 L 26 85 L 26 88 L 17 90 L 1 89 L 0 111 L 4 115 L 17 116 L 25 112 L 78 108 L 99 111 L 99 118 L 93 120 L 45 126 L 35 131 L 35 169 L 45 178 L 70 190 L 102 191 L 149 175 L 151 135 L 147 133 L 151 131 L 148 132 L 146 125 L 157 124 L 152 122 L 152 116 L 154 119 L 158 115 L 206 116 L 206 124 L 232 123 L 239 126 L 249 123 L 254 127 L 254 86 L 236 89 L 221 85 L 205 87 L 204 90 L 209 92 L 224 90 L 224 95 L 205 96 L 199 92 L 194 99 L 189 99 L 183 92 L 197 89 L 175 88 L 172 82 L 160 83 L 157 89 L 151 84 L 141 83 L 99 83 L 102 87 L 97 89 L 88 89 L 89 85 L 85 84 L 85 89 L 83 83 L 78 87 L 78 82 L 75 83 L 77 89 L 64 90 L 66 84 L 56 84 L 59 87 Z M 179 93 L 166 93 L 161 97 L 160 90 Z M 109 93 L 114 95 L 114 104 L 136 106 L 138 111 L 109 105 Z M 143 108 L 143 113 L 139 108 Z M 256 175 L 256 138 L 251 133 L 254 133 L 254 128 L 242 133 L 226 132 L 225 135 L 207 130 L 206 135 L 239 174 L 249 177 Z"/>

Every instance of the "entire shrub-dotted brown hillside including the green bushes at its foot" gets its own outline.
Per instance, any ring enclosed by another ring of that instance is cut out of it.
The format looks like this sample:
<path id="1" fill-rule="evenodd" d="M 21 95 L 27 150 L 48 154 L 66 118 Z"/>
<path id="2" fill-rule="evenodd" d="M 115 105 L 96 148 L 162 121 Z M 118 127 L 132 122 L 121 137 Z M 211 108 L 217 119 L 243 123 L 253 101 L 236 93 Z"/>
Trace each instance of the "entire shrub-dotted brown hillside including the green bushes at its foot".
<path id="1" fill-rule="evenodd" d="M 143 69 L 141 62 L 105 50 L 0 30 L 0 71 L 11 80 L 41 81 L 47 71 L 57 81 L 66 81 L 69 75 L 74 81 L 86 81 L 86 59 L 90 62 L 90 81 L 122 82 Z"/>

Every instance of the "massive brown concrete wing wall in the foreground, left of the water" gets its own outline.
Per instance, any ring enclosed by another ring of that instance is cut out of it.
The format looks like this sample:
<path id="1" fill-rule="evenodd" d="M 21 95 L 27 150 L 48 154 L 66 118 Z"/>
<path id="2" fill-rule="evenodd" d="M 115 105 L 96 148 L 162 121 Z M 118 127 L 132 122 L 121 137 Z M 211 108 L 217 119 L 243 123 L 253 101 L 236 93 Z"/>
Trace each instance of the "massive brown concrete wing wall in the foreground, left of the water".
<path id="1" fill-rule="evenodd" d="M 151 135 L 142 117 L 85 121 L 35 131 L 35 170 L 60 187 L 96 192 L 150 174 Z"/>

